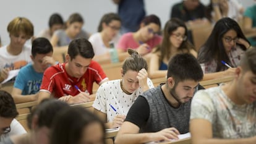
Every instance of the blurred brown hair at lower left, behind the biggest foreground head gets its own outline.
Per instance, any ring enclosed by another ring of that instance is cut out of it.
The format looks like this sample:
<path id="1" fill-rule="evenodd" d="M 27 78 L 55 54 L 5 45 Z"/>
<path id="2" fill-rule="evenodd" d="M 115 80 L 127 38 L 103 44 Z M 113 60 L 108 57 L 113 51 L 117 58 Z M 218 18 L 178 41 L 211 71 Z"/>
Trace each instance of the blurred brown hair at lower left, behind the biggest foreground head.
<path id="1" fill-rule="evenodd" d="M 38 127 L 48 127 L 51 128 L 53 124 L 53 119 L 62 109 L 69 108 L 69 104 L 54 100 L 54 99 L 45 99 L 41 101 L 35 109 L 32 110 L 27 117 L 28 128 L 32 128 L 32 119 L 34 116 L 38 116 Z"/>

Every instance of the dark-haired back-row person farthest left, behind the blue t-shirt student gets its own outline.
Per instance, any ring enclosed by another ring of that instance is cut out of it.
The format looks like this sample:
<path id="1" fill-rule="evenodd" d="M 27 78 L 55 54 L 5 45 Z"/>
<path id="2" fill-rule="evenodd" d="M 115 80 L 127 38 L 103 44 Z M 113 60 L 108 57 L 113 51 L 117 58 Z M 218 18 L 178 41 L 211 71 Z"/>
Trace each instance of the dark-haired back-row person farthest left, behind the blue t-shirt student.
<path id="1" fill-rule="evenodd" d="M 64 22 L 58 13 L 54 13 L 49 17 L 49 22 L 48 22 L 49 28 L 42 30 L 39 34 L 38 37 L 44 37 L 47 38 L 49 41 L 51 40 L 51 36 L 53 36 L 53 33 L 56 30 L 60 30 L 64 27 Z"/>

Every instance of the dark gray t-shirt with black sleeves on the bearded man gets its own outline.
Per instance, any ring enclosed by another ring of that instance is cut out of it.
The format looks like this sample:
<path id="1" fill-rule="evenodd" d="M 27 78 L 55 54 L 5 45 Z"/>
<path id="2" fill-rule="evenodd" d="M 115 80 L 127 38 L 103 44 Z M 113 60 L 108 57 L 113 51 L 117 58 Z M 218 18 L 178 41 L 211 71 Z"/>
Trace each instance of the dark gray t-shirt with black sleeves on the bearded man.
<path id="1" fill-rule="evenodd" d="M 175 127 L 180 133 L 189 132 L 190 103 L 174 108 L 166 100 L 161 85 L 145 91 L 130 108 L 126 121 L 140 127 L 142 132 L 158 132 Z"/>

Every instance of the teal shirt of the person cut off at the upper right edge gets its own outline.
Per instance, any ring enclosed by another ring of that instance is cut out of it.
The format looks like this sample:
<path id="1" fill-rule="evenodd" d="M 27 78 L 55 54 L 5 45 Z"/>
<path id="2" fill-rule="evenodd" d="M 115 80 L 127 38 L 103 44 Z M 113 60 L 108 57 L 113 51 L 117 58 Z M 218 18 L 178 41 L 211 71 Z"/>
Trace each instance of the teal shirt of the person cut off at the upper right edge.
<path id="1" fill-rule="evenodd" d="M 244 12 L 244 17 L 249 17 L 252 20 L 252 27 L 256 27 L 256 4 L 248 7 Z M 248 38 L 252 46 L 256 46 L 256 38 Z"/>

